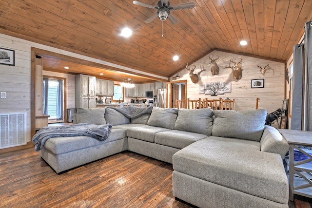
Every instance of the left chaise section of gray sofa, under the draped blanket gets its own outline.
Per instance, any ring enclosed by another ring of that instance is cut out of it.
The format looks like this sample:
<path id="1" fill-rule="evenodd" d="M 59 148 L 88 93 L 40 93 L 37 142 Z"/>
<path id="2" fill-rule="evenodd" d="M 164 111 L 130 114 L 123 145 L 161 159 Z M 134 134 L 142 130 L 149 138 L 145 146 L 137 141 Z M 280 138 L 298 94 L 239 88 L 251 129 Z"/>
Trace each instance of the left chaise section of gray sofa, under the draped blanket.
<path id="1" fill-rule="evenodd" d="M 105 141 L 88 136 L 55 137 L 40 150 L 42 159 L 57 173 L 127 150 L 126 131 L 112 129 Z"/>

